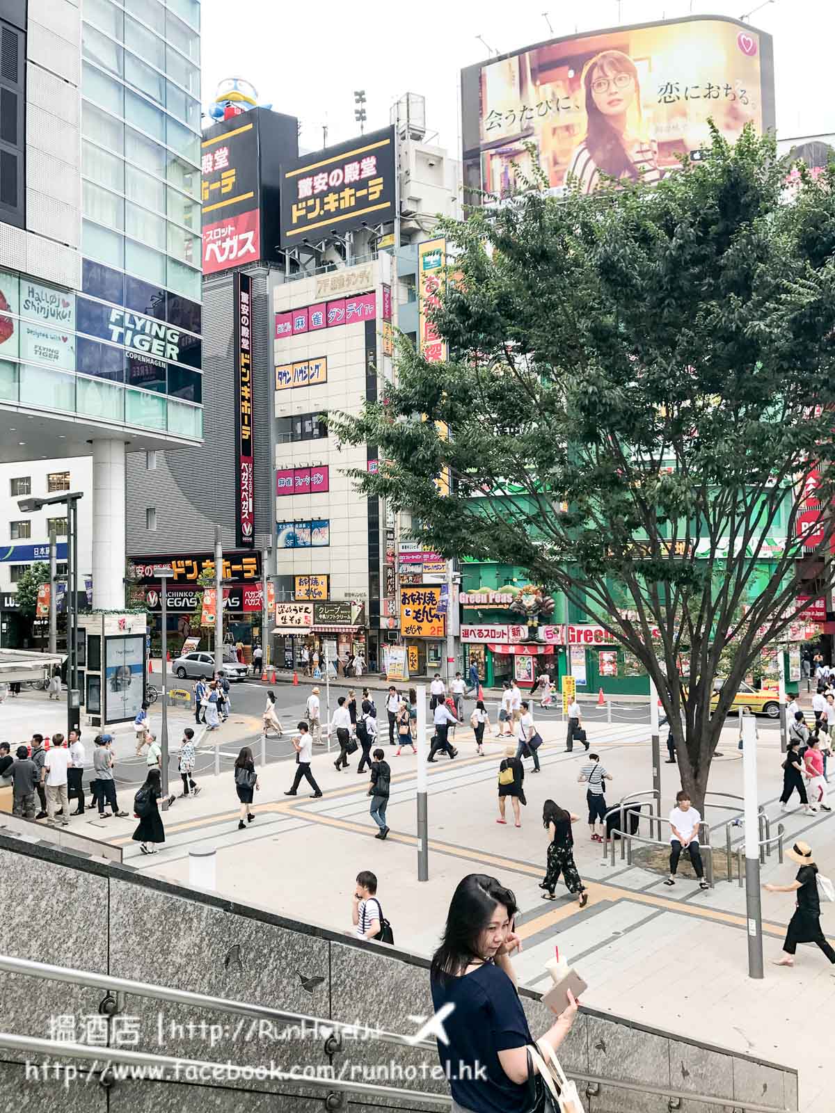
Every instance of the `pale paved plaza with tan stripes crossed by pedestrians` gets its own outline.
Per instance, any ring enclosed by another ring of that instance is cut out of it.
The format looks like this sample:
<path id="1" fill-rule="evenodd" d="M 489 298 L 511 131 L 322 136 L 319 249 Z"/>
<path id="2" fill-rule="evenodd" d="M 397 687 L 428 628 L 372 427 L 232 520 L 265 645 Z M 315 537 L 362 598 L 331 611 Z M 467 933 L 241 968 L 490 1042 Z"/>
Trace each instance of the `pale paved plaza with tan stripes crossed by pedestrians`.
<path id="1" fill-rule="evenodd" d="M 304 691 L 297 699 L 303 702 Z M 243 702 L 242 696 L 238 706 Z M 8 703 L 0 710 L 7 718 Z M 59 711 L 62 708 L 57 705 L 52 709 L 39 707 L 43 715 Z M 23 708 L 19 706 L 14 713 L 22 715 Z M 185 712 L 171 715 L 173 739 L 179 738 L 181 726 L 188 721 Z M 806 839 L 822 871 L 835 875 L 832 817 L 825 812 L 804 816 L 799 810 L 780 816 L 779 736 L 765 729 L 765 723 L 762 727 L 760 804 L 773 820 L 773 834 L 782 820 L 789 845 L 796 838 Z M 703 893 L 680 870 L 679 880 L 670 889 L 662 884 L 662 874 L 638 865 L 630 868 L 621 860 L 619 847 L 615 866 L 608 859 L 603 863 L 600 845 L 589 840 L 586 790 L 577 782 L 583 765 L 582 748 L 576 746 L 572 755 L 564 752 L 564 727 L 558 716 L 540 720 L 540 728 L 546 740 L 540 750 L 542 772 L 532 775 L 531 764 L 525 762 L 528 807 L 522 810 L 521 829 L 512 823 L 495 823 L 497 767 L 505 742 L 491 737 L 485 740 L 487 755 L 478 757 L 472 731 L 469 727 L 456 728 L 459 757 L 452 762 L 439 757 L 435 768 L 429 770 L 426 883 L 418 881 L 418 759 L 411 751 L 396 757 L 395 749 L 384 747 L 393 772 L 387 811 L 392 830 L 385 843 L 373 838 L 376 827 L 369 816 L 367 778 L 356 774 L 356 755 L 350 769 L 337 774 L 333 767 L 337 750 L 327 754 L 324 747 L 314 748 L 313 769 L 325 795 L 320 800 L 310 799 L 303 782 L 299 796 L 288 799 L 283 794 L 292 781 L 294 762 L 286 743 L 281 743 L 285 747 L 281 751 L 277 742 L 272 743 L 267 766 L 261 772 L 256 819 L 247 830 L 238 831 L 232 762 L 240 740 L 257 730 L 257 720 L 236 712 L 224 728 L 228 737 L 220 740 L 220 776 L 214 776 L 214 755 L 207 748 L 207 742 L 214 743 L 215 739 L 204 737 L 197 777 L 203 791 L 197 798 L 176 800 L 166 814 L 167 841 L 156 856 L 141 856 L 138 845 L 131 841 L 136 825 L 132 818 L 101 823 L 90 812 L 90 819 L 73 819 L 72 829 L 121 846 L 125 861 L 136 869 L 184 884 L 189 879 L 189 850 L 215 847 L 220 893 L 291 918 L 345 930 L 350 929 L 354 877 L 360 869 L 372 869 L 380 879 L 381 902 L 396 944 L 423 954 L 430 954 L 438 944 L 460 878 L 473 871 L 493 874 L 515 892 L 521 908 L 518 927 L 524 949 L 518 969 L 524 984 L 543 987 L 548 976 L 544 963 L 558 944 L 589 983 L 589 1005 L 795 1066 L 800 1072 L 803 1113 L 829 1113 L 826 1043 L 809 1041 L 803 1022 L 809 1015 L 826 1015 L 821 1009 L 832 1007 L 835 978 L 816 947 L 800 947 L 794 971 L 777 969 L 770 962 L 780 952 L 793 897 L 763 893 L 766 976 L 759 982 L 749 979 L 745 892 L 736 878 L 733 883 L 717 880 L 714 889 Z M 381 737 L 387 742 L 384 727 Z M 607 723 L 601 716 L 599 721 L 589 719 L 589 738 L 615 778 L 607 792 L 610 805 L 651 788 L 646 723 Z M 120 761 L 128 762 L 132 730 L 122 728 L 118 739 L 117 751 L 125 754 Z M 726 728 L 724 756 L 715 760 L 711 772 L 714 791 L 741 794 L 741 755 L 736 741 L 736 729 Z M 662 765 L 661 770 L 666 815 L 679 784 L 676 767 Z M 582 910 L 561 887 L 557 902 L 542 899 L 539 883 L 544 871 L 546 834 L 541 812 L 548 797 L 581 816 L 574 827 L 574 856 L 590 889 L 589 904 Z M 724 848 L 724 825 L 733 817 L 731 811 L 706 809 L 715 845 Z M 641 834 L 649 834 L 646 823 Z M 741 828 L 734 828 L 733 834 L 735 845 L 739 845 Z M 789 859 L 780 866 L 775 853 L 763 868 L 763 880 L 785 884 L 795 871 Z M 831 927 L 835 935 L 835 925 L 827 925 L 833 915 L 827 913 L 828 907 L 824 905 L 824 929 Z"/>

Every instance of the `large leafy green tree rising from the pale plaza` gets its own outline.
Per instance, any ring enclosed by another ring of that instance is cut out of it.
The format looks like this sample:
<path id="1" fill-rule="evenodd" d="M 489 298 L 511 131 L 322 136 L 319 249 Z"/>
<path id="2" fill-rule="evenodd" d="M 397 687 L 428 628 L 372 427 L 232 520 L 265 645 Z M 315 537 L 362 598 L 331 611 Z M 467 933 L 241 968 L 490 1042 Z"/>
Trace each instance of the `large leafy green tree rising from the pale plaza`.
<path id="1" fill-rule="evenodd" d="M 354 482 L 430 548 L 521 565 L 640 660 L 696 801 L 800 569 L 818 598 L 833 581 L 829 514 L 808 506 L 835 493 L 835 167 L 790 191 L 789 170 L 770 139 L 714 131 L 655 188 L 531 190 L 444 221 L 452 357 L 401 337 L 385 396 L 331 420 L 379 446 Z"/>

